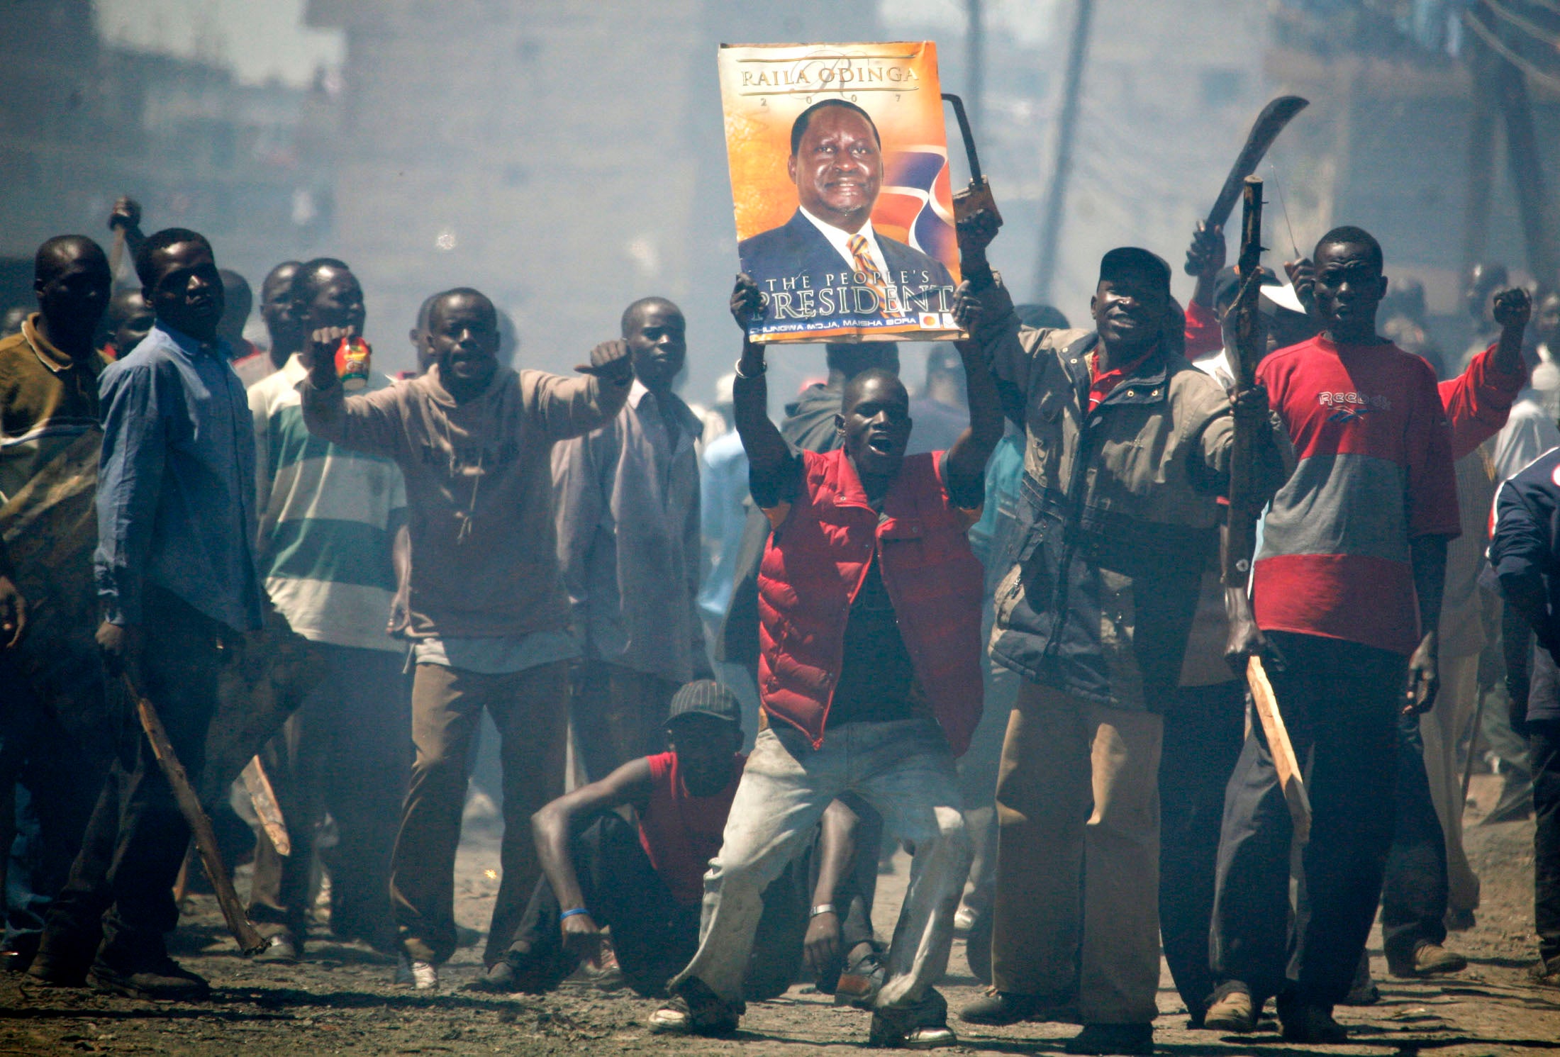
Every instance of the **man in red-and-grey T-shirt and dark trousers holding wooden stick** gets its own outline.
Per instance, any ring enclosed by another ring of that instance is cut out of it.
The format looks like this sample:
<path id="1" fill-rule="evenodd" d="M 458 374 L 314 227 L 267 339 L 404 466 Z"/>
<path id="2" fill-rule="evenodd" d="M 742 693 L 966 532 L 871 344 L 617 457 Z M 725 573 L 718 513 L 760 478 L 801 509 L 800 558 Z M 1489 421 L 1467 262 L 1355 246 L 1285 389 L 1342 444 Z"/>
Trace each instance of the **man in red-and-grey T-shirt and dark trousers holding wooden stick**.
<path id="1" fill-rule="evenodd" d="M 1317 243 L 1324 331 L 1267 357 L 1257 380 L 1298 465 L 1273 497 L 1253 571 L 1256 628 L 1284 722 L 1310 758 L 1309 912 L 1289 918 L 1292 826 L 1260 726 L 1229 783 L 1214 907 L 1220 979 L 1209 1027 L 1250 1030 L 1278 998 L 1284 1037 L 1342 1041 L 1348 992 L 1381 898 L 1399 712 L 1438 688 L 1446 543 L 1459 535 L 1452 440 L 1435 373 L 1376 335 L 1379 243 L 1335 228 Z M 1242 614 L 1243 616 L 1243 614 Z M 1243 620 L 1250 624 L 1248 620 Z M 1285 963 L 1289 965 L 1285 977 Z"/>

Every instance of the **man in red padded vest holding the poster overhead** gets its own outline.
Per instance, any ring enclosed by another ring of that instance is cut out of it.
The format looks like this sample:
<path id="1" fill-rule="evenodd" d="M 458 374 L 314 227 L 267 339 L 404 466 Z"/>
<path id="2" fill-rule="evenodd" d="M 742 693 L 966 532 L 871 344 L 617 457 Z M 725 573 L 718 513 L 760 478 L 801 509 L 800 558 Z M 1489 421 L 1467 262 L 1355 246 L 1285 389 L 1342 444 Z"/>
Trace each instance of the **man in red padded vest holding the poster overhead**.
<path id="1" fill-rule="evenodd" d="M 966 310 L 970 309 L 967 302 Z M 760 318 L 746 276 L 732 295 L 738 326 Z M 699 951 L 651 1016 L 660 1032 L 736 1027 L 761 893 L 828 803 L 855 792 L 914 847 L 905 910 L 872 998 L 870 1041 L 955 1041 L 931 985 L 953 937 L 969 871 L 953 758 L 980 720 L 981 566 L 966 532 L 1002 438 L 983 352 L 959 348 L 970 429 L 947 452 L 905 457 L 909 398 L 897 377 L 864 371 L 844 388 L 839 449 L 794 452 L 766 415 L 764 354 L 746 341 L 736 365 L 736 430 L 753 504 L 774 535 L 758 577 L 760 731 L 704 879 Z"/>

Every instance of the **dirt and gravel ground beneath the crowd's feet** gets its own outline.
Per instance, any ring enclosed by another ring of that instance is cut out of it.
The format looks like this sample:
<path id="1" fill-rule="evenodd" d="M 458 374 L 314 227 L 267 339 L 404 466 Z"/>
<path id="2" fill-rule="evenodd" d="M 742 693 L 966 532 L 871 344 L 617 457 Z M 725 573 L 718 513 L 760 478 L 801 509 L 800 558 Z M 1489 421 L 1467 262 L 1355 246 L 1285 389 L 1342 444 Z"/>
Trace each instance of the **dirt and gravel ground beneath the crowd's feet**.
<path id="1" fill-rule="evenodd" d="M 1493 779 L 1476 789 L 1488 806 Z M 1465 973 L 1434 982 L 1381 979 L 1382 1001 L 1340 1009 L 1357 1045 L 1317 1048 L 1334 1054 L 1434 1052 L 1451 1055 L 1560 1051 L 1560 990 L 1533 987 L 1532 823 L 1476 825 L 1470 808 L 1468 843 L 1484 881 L 1477 926 L 1454 934 L 1465 953 Z M 899 914 L 908 861 L 895 859 L 877 906 L 878 928 Z M 468 826 L 459 861 L 459 918 L 471 929 L 487 924 L 498 890 L 498 854 L 488 828 Z M 604 993 L 568 984 L 546 998 L 490 998 L 456 990 L 479 971 L 479 948 L 465 946 L 443 970 L 437 993 L 392 984 L 393 967 L 368 948 L 331 942 L 320 931 L 309 959 L 296 967 L 248 962 L 223 934 L 215 903 L 192 898 L 178 932 L 176 954 L 204 974 L 214 1001 L 200 1006 L 154 1004 L 28 987 L 0 979 L 0 1057 L 9 1054 L 724 1054 L 794 1055 L 863 1049 L 867 1015 L 835 1009 L 807 985 L 772 1002 L 755 1002 L 733 1040 L 686 1040 L 651 1035 L 644 1020 L 654 1002 L 632 992 Z M 1385 973 L 1379 934 L 1373 967 Z M 978 995 L 955 943 L 942 984 L 958 1010 Z M 1186 1010 L 1162 976 L 1158 1043 L 1170 1054 L 1312 1052 L 1279 1041 L 1276 1026 L 1248 1037 L 1220 1037 L 1186 1029 Z M 1078 1029 L 1069 1024 L 977 1027 L 953 1021 L 961 1046 L 950 1052 L 1055 1054 Z"/>

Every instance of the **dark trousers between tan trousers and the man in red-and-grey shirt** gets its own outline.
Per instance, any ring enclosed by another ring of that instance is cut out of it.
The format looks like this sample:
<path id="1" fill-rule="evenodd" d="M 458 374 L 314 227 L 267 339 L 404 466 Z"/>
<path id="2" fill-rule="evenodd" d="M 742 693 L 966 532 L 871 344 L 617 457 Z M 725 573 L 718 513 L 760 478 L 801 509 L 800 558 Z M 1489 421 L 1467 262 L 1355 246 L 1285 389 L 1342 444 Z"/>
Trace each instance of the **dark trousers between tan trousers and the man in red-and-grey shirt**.
<path id="1" fill-rule="evenodd" d="M 1201 1020 L 1214 992 L 1207 932 L 1225 787 L 1240 758 L 1245 686 L 1186 686 L 1159 755 L 1159 940 L 1176 992 Z"/>

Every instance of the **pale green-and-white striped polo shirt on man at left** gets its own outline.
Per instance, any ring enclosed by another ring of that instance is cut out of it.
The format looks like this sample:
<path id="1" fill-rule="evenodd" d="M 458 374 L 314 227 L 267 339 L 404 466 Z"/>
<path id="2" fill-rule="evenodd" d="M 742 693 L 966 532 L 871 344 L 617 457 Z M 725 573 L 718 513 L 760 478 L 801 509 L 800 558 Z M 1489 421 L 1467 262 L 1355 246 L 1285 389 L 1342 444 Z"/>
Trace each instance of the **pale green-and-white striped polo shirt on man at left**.
<path id="1" fill-rule="evenodd" d="M 295 388 L 306 374 L 295 355 L 250 388 L 265 589 L 306 639 L 402 650 L 385 624 L 396 588 L 392 514 L 406 508 L 406 483 L 388 458 L 309 433 Z M 388 385 L 374 373 L 365 391 Z"/>

